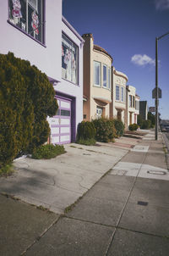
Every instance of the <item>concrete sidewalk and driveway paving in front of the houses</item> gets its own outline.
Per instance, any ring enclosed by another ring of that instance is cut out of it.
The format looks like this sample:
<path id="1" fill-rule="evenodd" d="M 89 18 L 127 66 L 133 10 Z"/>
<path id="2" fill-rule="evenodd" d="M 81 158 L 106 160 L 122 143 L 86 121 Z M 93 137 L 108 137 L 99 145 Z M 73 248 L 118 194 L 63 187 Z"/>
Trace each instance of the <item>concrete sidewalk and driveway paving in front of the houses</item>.
<path id="1" fill-rule="evenodd" d="M 149 131 L 143 140 L 99 145 L 70 144 L 66 154 L 36 164 L 20 159 L 16 174 L 0 179 L 1 192 L 55 212 L 0 196 L 0 255 L 169 254 L 169 172 L 161 136 L 155 142 Z"/>

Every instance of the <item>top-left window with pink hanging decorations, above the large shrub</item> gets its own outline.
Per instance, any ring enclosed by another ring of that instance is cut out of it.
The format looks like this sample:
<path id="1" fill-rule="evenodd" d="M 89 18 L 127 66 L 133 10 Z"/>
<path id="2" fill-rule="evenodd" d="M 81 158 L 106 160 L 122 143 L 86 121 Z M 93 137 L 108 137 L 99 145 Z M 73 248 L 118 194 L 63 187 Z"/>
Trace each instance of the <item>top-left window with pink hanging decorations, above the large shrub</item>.
<path id="1" fill-rule="evenodd" d="M 44 0 L 8 0 L 8 21 L 44 43 Z"/>

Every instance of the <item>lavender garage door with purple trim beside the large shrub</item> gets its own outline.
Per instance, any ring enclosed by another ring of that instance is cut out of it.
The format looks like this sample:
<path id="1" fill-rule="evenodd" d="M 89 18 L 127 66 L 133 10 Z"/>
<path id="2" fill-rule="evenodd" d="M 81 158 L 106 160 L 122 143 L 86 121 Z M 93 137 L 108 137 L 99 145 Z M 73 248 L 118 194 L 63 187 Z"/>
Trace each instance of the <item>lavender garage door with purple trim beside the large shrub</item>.
<path id="1" fill-rule="evenodd" d="M 71 101 L 57 97 L 59 109 L 51 119 L 52 144 L 71 142 Z"/>

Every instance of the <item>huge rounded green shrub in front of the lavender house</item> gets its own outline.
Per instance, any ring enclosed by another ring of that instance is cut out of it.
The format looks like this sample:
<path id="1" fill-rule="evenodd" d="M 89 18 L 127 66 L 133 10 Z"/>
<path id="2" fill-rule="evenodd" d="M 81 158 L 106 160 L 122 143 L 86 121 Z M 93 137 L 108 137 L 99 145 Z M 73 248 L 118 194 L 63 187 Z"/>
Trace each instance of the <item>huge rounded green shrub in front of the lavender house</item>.
<path id="1" fill-rule="evenodd" d="M 29 61 L 0 54 L 0 168 L 46 142 L 57 111 L 52 84 Z"/>

